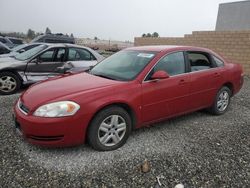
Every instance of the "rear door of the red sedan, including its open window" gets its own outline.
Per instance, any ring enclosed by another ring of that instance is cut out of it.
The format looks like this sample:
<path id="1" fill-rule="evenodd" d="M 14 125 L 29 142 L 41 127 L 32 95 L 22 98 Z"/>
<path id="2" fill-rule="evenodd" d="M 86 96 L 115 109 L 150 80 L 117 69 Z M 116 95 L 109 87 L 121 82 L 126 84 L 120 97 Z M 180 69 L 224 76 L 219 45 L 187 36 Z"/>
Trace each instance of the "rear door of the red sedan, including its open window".
<path id="1" fill-rule="evenodd" d="M 199 51 L 186 53 L 190 70 L 190 107 L 192 110 L 212 105 L 221 84 L 219 69 L 210 54 Z"/>

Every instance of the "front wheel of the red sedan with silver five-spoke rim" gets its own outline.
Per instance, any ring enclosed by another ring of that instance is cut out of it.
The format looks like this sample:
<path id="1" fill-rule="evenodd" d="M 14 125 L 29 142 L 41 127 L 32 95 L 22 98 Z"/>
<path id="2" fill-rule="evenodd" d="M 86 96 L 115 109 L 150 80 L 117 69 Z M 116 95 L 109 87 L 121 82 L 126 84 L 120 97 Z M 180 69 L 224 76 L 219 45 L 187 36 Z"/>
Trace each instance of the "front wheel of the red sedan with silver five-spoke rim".
<path id="1" fill-rule="evenodd" d="M 88 142 L 96 150 L 115 150 L 125 144 L 132 128 L 131 117 L 123 108 L 111 106 L 91 121 Z"/>

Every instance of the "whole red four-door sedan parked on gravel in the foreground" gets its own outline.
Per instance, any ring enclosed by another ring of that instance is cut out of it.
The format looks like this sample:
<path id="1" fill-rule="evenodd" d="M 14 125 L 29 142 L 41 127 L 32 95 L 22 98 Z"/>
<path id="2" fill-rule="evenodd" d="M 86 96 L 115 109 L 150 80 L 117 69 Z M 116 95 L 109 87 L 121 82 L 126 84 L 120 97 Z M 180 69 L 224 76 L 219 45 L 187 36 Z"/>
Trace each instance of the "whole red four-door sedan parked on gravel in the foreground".
<path id="1" fill-rule="evenodd" d="M 15 105 L 31 143 L 121 147 L 133 129 L 200 109 L 220 115 L 243 84 L 242 68 L 211 50 L 145 46 L 120 51 L 89 72 L 35 84 Z"/>

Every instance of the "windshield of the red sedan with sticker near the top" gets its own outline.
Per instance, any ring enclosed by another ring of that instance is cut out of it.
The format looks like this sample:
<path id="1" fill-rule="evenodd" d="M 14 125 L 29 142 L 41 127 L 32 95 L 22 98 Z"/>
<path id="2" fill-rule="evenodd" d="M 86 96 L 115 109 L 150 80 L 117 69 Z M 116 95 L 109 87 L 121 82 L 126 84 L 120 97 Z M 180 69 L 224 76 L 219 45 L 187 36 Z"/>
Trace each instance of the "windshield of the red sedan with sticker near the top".
<path id="1" fill-rule="evenodd" d="M 121 51 L 97 64 L 90 74 L 113 80 L 133 80 L 155 54 L 155 52 Z"/>

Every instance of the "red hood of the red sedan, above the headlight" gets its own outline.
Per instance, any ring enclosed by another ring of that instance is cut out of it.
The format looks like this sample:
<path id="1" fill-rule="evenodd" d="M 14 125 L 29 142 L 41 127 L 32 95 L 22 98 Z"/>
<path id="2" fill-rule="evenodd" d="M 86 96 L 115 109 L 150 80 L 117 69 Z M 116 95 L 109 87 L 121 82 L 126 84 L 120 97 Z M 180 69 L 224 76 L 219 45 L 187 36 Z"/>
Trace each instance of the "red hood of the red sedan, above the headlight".
<path id="1" fill-rule="evenodd" d="M 22 94 L 21 101 L 30 110 L 34 110 L 53 101 L 71 100 L 73 96 L 120 83 L 123 82 L 88 73 L 62 75 L 34 84 Z"/>

